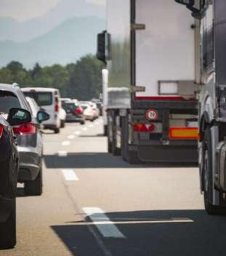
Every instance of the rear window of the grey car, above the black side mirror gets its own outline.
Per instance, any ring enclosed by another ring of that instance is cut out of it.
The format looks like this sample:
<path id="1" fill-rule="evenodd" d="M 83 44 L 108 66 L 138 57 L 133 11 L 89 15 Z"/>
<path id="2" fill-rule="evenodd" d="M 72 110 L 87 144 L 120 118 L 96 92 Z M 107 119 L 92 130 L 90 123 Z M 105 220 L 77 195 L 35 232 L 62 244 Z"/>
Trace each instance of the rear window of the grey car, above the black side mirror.
<path id="1" fill-rule="evenodd" d="M 21 108 L 20 101 L 12 92 L 0 91 L 0 113 L 9 113 L 10 108 Z"/>

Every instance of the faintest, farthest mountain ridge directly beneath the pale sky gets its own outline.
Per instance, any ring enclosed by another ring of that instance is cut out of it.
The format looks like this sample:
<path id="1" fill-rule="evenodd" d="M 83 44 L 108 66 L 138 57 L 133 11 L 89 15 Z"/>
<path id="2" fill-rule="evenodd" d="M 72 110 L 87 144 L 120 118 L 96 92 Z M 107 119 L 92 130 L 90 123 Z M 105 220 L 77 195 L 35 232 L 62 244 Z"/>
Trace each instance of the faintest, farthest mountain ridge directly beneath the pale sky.
<path id="1" fill-rule="evenodd" d="M 87 0 L 60 0 L 54 8 L 41 17 L 23 22 L 12 17 L 0 17 L 0 41 L 28 41 L 49 32 L 72 17 L 88 16 L 103 19 L 105 7 Z"/>

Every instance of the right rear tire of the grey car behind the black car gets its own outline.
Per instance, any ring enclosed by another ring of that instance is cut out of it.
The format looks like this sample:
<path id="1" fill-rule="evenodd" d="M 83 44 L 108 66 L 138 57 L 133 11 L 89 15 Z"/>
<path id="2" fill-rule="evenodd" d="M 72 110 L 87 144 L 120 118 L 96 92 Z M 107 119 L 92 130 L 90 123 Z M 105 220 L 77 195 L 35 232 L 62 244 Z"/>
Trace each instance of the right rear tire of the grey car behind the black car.
<path id="1" fill-rule="evenodd" d="M 26 196 L 41 196 L 42 194 L 42 168 L 35 180 L 26 181 L 24 185 Z"/>

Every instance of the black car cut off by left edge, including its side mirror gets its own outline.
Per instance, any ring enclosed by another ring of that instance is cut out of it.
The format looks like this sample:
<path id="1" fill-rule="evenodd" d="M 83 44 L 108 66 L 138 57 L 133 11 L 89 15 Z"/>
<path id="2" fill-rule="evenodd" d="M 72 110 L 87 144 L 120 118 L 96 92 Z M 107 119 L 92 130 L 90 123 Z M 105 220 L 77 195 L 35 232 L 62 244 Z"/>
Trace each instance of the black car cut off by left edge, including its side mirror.
<path id="1" fill-rule="evenodd" d="M 9 111 L 8 121 L 0 116 L 0 249 L 16 244 L 16 193 L 19 153 L 11 125 L 31 121 L 31 113 L 20 108 Z"/>

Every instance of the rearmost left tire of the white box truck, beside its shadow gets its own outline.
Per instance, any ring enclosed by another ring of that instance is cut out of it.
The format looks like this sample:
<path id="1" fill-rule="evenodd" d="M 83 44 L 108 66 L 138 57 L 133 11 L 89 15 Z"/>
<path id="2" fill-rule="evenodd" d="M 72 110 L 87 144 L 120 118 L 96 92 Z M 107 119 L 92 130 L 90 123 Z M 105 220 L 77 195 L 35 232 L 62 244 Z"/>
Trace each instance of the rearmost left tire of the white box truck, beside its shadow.
<path id="1" fill-rule="evenodd" d="M 129 164 L 142 164 L 142 161 L 138 159 L 136 151 L 129 151 L 129 143 L 128 143 L 128 136 L 129 136 L 129 125 L 127 121 L 128 117 L 122 118 L 122 125 L 121 125 L 121 156 L 124 161 L 128 162 Z"/>

